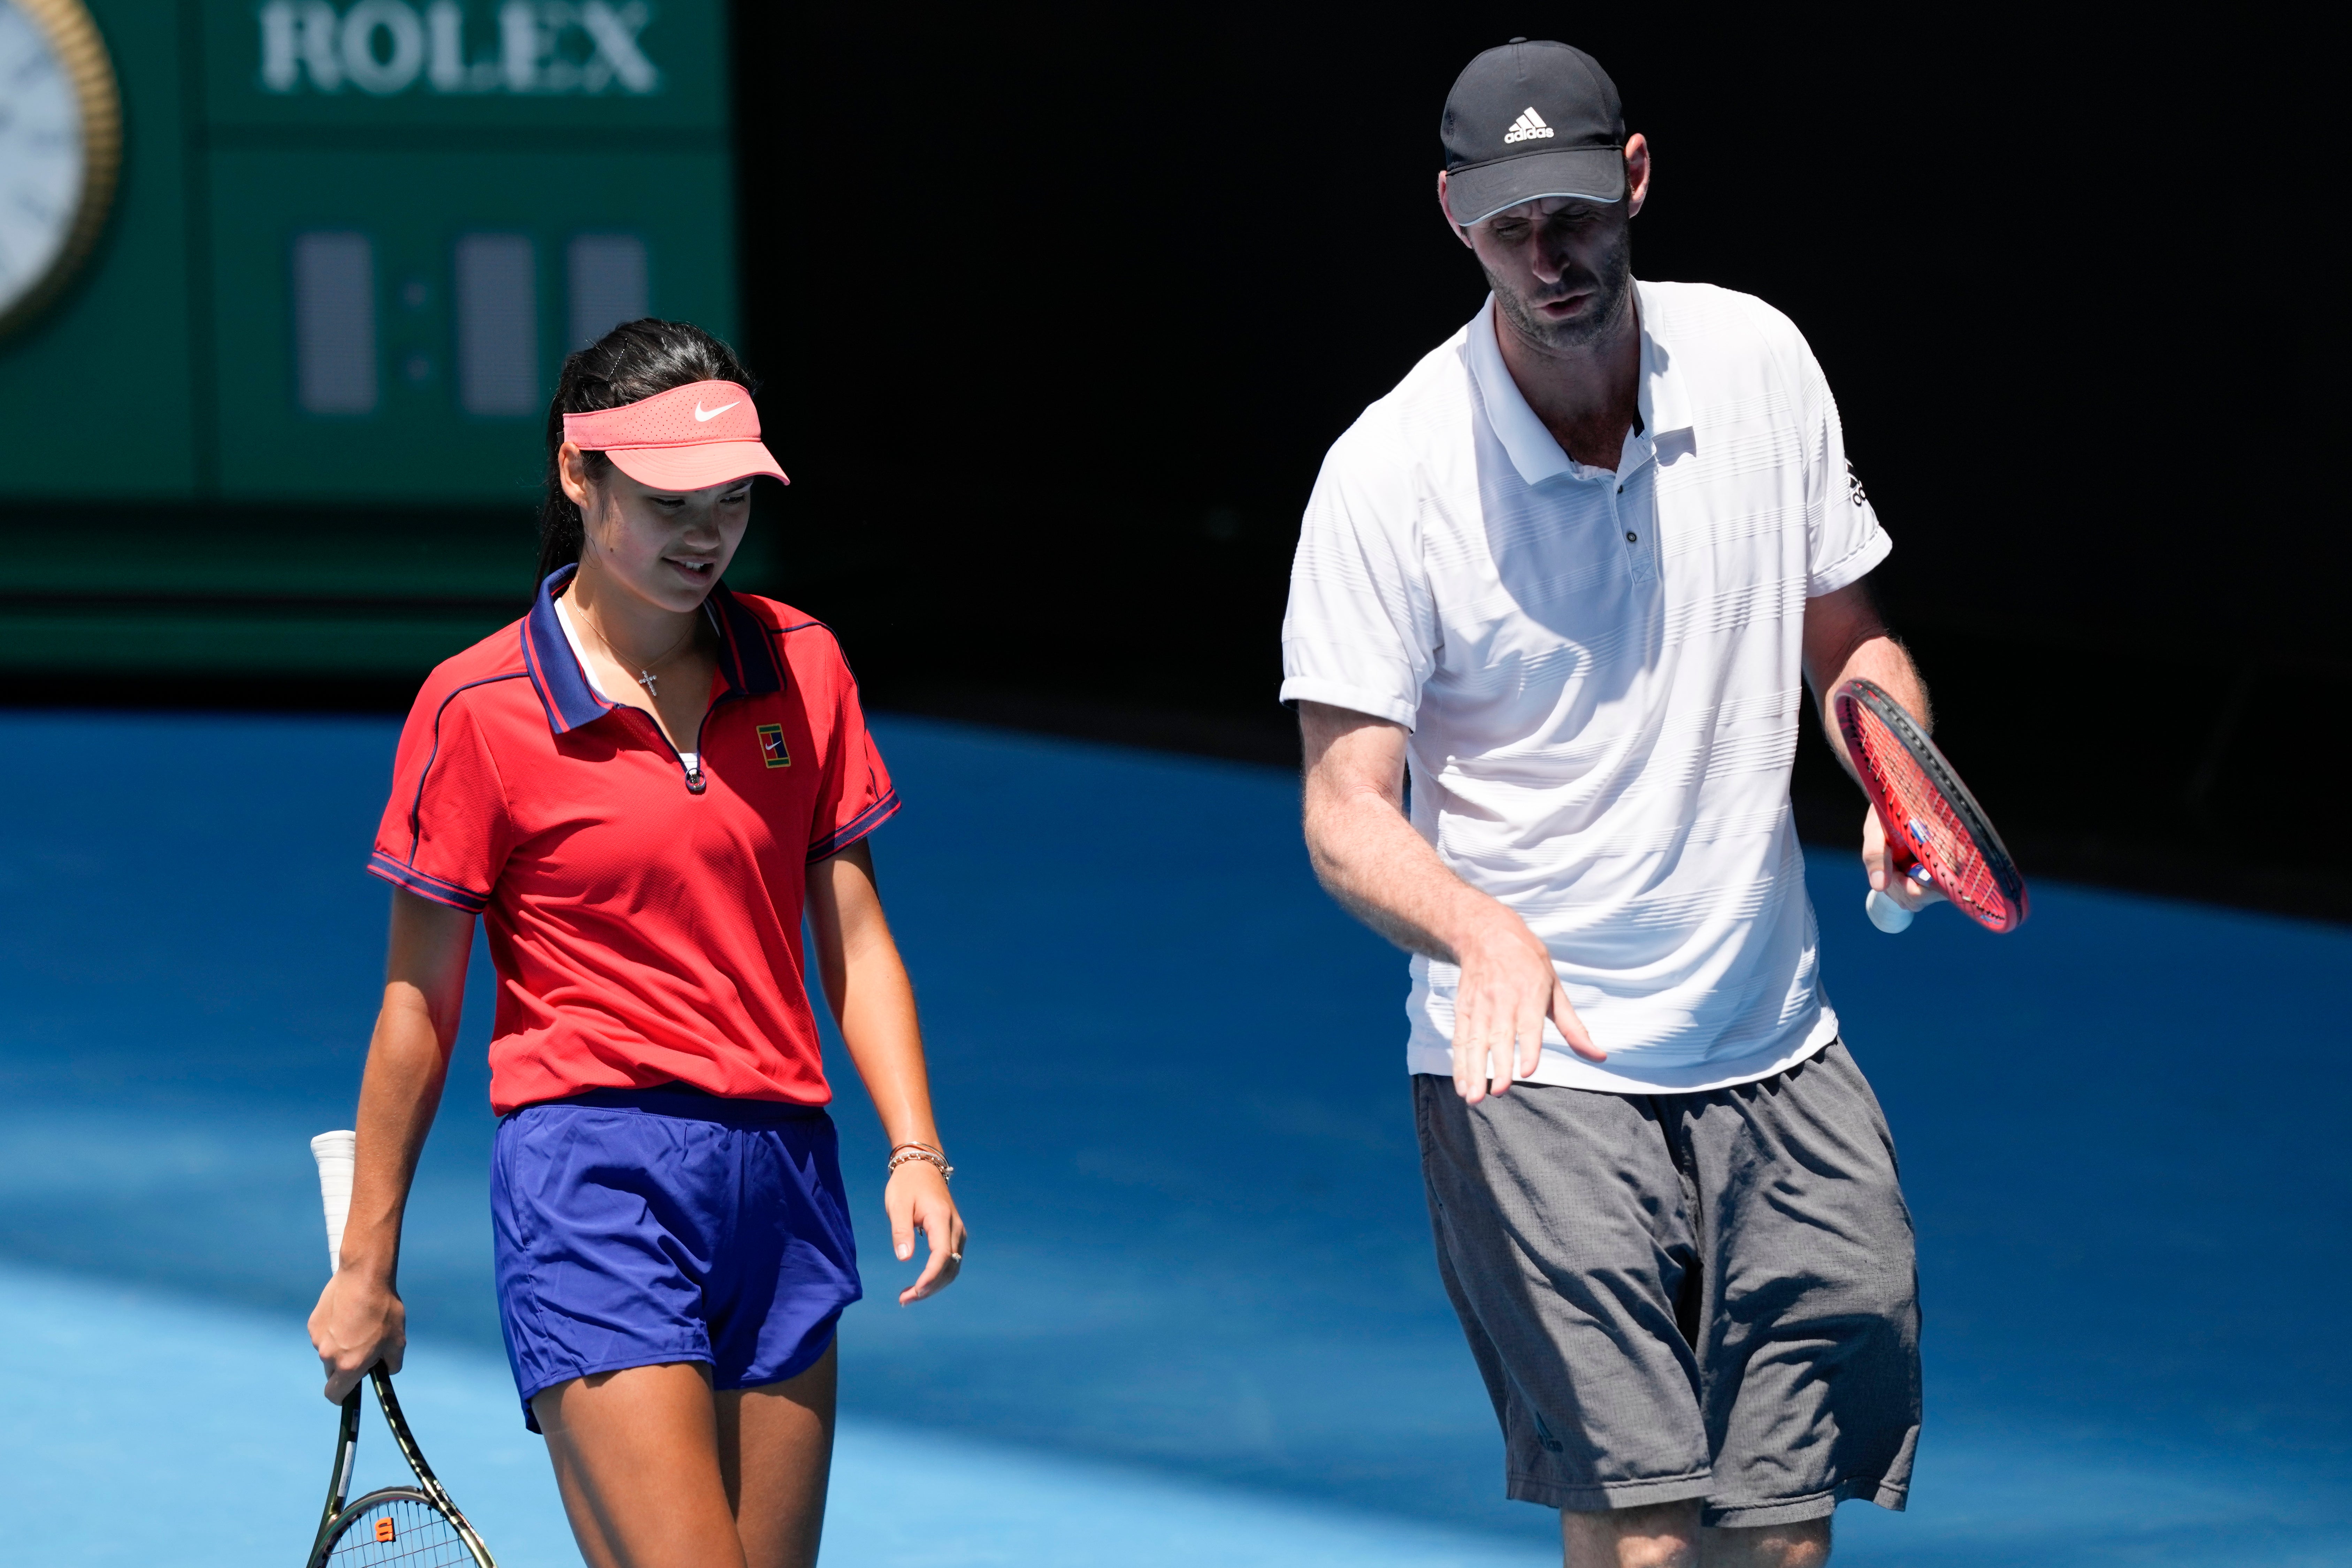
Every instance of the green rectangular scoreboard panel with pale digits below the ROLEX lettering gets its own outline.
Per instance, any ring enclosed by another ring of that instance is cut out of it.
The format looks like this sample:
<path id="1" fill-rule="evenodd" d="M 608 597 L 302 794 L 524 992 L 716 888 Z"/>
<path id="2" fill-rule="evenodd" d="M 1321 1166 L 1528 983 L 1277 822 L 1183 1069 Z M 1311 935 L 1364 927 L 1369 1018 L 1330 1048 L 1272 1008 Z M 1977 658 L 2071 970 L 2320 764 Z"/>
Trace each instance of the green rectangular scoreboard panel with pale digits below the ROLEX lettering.
<path id="1" fill-rule="evenodd" d="M 731 331 L 731 190 L 694 153 L 235 148 L 212 172 L 223 496 L 529 501 L 567 353 L 640 315 Z"/>

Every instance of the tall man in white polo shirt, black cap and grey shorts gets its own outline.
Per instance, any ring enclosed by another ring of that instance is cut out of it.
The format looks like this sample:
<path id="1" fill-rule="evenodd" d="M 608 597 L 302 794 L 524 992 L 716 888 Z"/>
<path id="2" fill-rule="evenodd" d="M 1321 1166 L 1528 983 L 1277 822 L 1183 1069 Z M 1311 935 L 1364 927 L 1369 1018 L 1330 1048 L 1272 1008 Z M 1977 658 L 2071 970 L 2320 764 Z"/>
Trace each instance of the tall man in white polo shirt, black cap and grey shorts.
<path id="1" fill-rule="evenodd" d="M 1414 952 L 1437 1269 L 1510 1495 L 1571 1568 L 1811 1568 L 1842 1500 L 1903 1507 L 1919 1434 L 1910 1211 L 1788 799 L 1804 682 L 1926 712 L 1863 588 L 1889 538 L 1795 324 L 1635 282 L 1651 160 L 1592 56 L 1479 54 L 1442 139 L 1494 294 L 1308 503 L 1308 849 Z"/>

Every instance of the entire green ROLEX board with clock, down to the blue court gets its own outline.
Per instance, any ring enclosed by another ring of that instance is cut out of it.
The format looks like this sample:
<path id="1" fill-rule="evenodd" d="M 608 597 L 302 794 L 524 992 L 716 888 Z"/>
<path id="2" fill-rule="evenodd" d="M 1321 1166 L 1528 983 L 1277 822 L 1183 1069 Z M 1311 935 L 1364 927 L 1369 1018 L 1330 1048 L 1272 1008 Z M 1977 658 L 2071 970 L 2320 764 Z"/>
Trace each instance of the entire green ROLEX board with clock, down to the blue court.
<path id="1" fill-rule="evenodd" d="M 562 357 L 734 334 L 724 33 L 0 0 L 0 665 L 397 675 L 510 616 Z"/>

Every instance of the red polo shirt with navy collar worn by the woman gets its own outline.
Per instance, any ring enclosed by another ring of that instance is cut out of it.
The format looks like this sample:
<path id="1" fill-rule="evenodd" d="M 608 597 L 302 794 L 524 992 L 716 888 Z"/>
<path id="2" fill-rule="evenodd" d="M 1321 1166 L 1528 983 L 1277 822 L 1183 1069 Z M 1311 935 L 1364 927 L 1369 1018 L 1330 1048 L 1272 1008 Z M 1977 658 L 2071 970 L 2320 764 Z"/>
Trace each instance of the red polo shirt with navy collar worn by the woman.
<path id="1" fill-rule="evenodd" d="M 487 914 L 499 1114 L 663 1081 L 823 1105 L 807 867 L 898 809 L 840 644 L 713 590 L 720 670 L 689 773 L 652 715 L 588 684 L 555 618 L 567 581 L 426 679 L 367 870 Z"/>

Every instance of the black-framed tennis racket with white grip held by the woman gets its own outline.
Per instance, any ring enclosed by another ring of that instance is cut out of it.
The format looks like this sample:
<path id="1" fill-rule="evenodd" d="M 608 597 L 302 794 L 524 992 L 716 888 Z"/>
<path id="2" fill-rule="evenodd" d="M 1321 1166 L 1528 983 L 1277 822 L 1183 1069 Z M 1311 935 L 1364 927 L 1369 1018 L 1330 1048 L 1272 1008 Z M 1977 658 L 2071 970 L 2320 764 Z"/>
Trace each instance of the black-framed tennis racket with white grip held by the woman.
<path id="1" fill-rule="evenodd" d="M 318 1192 L 327 1204 L 327 1265 L 343 1265 L 343 1218 L 350 1213 L 350 1161 L 353 1133 L 320 1133 L 310 1140 L 318 1159 Z M 355 1502 L 343 1502 L 350 1490 L 350 1465 L 360 1453 L 360 1389 L 350 1389 L 343 1401 L 343 1425 L 334 1439 L 334 1474 L 327 1479 L 327 1509 L 318 1519 L 318 1540 L 310 1542 L 306 1568 L 499 1568 L 489 1547 L 473 1533 L 456 1502 L 426 1465 L 409 1422 L 400 1415 L 393 1396 L 393 1380 L 379 1361 L 367 1371 L 376 1385 L 376 1406 L 383 1425 L 400 1448 L 400 1458 L 416 1472 L 416 1486 L 383 1486 Z"/>

